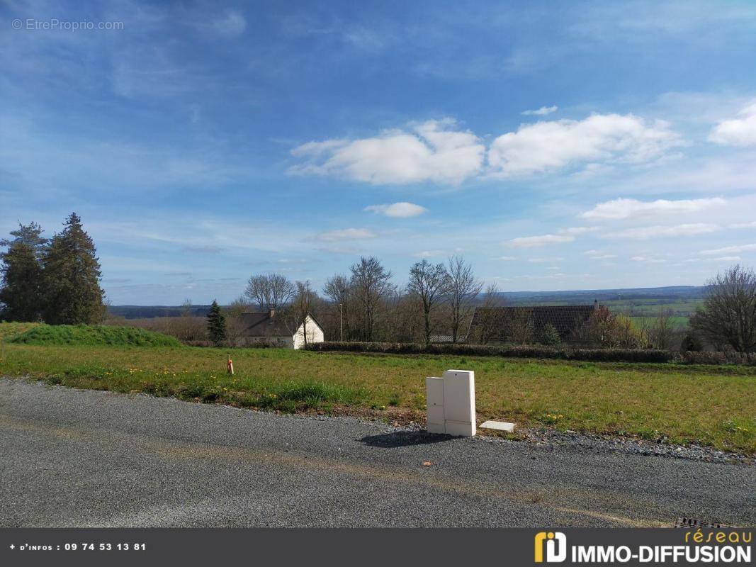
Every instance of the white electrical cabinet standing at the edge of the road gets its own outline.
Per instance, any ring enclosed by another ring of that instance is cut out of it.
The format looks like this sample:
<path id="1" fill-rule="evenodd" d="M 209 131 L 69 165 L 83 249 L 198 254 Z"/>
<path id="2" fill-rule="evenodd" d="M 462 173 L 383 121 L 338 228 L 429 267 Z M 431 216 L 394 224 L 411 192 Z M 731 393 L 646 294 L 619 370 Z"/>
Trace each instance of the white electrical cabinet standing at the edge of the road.
<path id="1" fill-rule="evenodd" d="M 426 406 L 430 433 L 475 435 L 475 373 L 447 370 L 442 378 L 426 378 Z"/>

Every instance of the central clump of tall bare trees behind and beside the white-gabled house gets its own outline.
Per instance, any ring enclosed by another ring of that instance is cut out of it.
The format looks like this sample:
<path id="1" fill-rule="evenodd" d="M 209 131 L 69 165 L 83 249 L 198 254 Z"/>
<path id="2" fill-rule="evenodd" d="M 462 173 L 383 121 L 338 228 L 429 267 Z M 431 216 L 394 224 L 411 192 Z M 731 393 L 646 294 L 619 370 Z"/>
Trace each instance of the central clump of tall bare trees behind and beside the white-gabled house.
<path id="1" fill-rule="evenodd" d="M 229 306 L 228 326 L 234 315 L 253 306 L 279 311 L 295 330 L 308 313 L 314 314 L 326 336 L 335 340 L 428 343 L 439 332 L 448 333 L 451 342 L 463 338 L 483 287 L 471 265 L 458 256 L 447 263 L 423 259 L 412 265 L 405 287 L 392 277 L 374 256 L 362 257 L 346 274 L 327 278 L 322 296 L 308 281 L 256 274 Z"/>

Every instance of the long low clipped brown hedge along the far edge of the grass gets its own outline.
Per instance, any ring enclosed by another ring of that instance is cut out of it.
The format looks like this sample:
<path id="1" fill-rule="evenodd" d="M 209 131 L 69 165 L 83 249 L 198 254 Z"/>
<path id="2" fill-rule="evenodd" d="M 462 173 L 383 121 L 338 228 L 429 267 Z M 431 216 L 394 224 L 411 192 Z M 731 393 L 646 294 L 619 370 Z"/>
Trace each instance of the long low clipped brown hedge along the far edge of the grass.
<path id="1" fill-rule="evenodd" d="M 398 355 L 469 355 L 503 358 L 557 358 L 595 362 L 683 362 L 686 364 L 756 364 L 756 354 L 674 352 L 649 349 L 554 349 L 547 346 L 422 345 L 413 342 L 311 342 L 311 351 L 381 352 Z"/>

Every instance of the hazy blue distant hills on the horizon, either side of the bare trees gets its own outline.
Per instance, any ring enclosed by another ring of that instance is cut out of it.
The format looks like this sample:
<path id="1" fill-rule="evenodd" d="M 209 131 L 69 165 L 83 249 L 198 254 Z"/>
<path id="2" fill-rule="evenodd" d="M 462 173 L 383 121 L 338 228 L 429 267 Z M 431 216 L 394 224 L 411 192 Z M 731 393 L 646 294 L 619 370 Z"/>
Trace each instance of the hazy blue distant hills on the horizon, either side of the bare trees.
<path id="1" fill-rule="evenodd" d="M 618 290 L 565 290 L 565 291 L 505 291 L 500 292 L 510 305 L 587 305 L 598 300 L 608 305 L 667 305 L 695 304 L 703 299 L 703 286 L 630 287 Z M 204 317 L 210 305 L 110 305 L 108 311 L 116 317 L 147 319 L 179 317 L 188 313 Z"/>

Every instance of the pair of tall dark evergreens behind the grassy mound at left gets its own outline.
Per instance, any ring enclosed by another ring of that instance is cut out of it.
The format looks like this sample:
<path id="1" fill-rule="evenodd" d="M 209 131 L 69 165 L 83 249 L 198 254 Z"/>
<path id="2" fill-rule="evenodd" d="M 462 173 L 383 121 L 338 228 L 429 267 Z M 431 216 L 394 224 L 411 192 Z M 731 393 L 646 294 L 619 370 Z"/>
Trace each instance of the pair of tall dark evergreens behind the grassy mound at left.
<path id="1" fill-rule="evenodd" d="M 0 320 L 91 324 L 104 318 L 95 243 L 72 212 L 60 232 L 42 236 L 36 222 L 19 223 L 0 240 Z"/>

